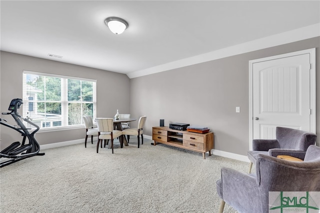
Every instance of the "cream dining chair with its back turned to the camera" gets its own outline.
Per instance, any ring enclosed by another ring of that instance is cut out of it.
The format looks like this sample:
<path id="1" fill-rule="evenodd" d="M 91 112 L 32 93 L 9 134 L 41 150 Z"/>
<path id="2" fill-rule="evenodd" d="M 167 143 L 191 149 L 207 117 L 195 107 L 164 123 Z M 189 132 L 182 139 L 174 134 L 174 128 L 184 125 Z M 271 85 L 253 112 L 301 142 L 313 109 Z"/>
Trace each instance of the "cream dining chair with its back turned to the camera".
<path id="1" fill-rule="evenodd" d="M 95 121 L 98 126 L 98 142 L 96 143 L 96 153 L 98 153 L 100 142 L 101 142 L 101 148 L 102 148 L 102 140 L 104 140 L 104 147 L 105 147 L 106 140 L 111 139 L 112 154 L 113 154 L 113 138 L 119 137 L 120 146 L 121 148 L 123 147 L 122 131 L 113 129 L 113 118 L 97 117 L 95 118 Z"/>

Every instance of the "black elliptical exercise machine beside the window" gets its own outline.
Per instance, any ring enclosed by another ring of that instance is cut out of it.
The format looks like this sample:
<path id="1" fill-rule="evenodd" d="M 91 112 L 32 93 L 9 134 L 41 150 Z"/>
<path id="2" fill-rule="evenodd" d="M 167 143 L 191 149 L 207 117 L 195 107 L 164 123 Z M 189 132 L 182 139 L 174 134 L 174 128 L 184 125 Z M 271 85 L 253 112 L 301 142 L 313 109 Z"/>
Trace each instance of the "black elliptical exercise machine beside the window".
<path id="1" fill-rule="evenodd" d="M 31 157 L 34 155 L 44 155 L 44 153 L 39 153 L 40 145 L 34 138 L 34 134 L 39 130 L 39 126 L 33 123 L 30 120 L 30 118 L 24 118 L 21 115 L 19 115 L 19 113 L 17 112 L 17 109 L 20 108 L 21 104 L 23 104 L 22 99 L 20 98 L 12 99 L 8 108 L 10 112 L 2 112 L 2 114 L 11 114 L 15 122 L 17 123 L 17 127 L 6 123 L 6 120 L 1 118 L 0 118 L 0 123 L 2 125 L 5 125 L 21 133 L 21 135 L 23 136 L 23 139 L 22 139 L 22 143 L 20 143 L 19 141 L 13 142 L 11 145 L 4 148 L 0 152 L 0 158 L 1 157 L 9 158 L 8 160 L 1 161 L 0 167 L 3 167 L 5 165 L 11 164 L 18 160 Z M 28 129 L 31 129 L 31 128 L 26 128 L 22 120 L 34 126 L 35 129 L 30 133 Z M 25 144 L 26 138 L 28 138 L 29 140 L 29 143 L 27 144 Z"/>

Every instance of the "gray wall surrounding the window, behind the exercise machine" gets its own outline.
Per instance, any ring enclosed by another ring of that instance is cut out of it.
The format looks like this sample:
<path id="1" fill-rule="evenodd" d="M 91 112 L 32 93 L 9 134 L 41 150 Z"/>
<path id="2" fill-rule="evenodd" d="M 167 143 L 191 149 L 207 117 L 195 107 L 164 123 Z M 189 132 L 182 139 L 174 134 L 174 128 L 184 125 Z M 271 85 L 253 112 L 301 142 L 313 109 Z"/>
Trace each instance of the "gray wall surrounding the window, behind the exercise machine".
<path id="1" fill-rule="evenodd" d="M 11 99 L 22 97 L 22 70 L 97 79 L 96 116 L 113 117 L 116 109 L 119 109 L 120 113 L 129 112 L 129 78 L 125 74 L 4 51 L 0 52 L 0 57 L 1 112 L 7 111 Z M 9 123 L 15 124 L 10 115 L 1 115 L 1 118 L 5 118 Z M 0 128 L 0 149 L 3 149 L 13 141 L 21 141 L 21 136 L 18 132 L 2 125 Z M 39 144 L 47 144 L 80 139 L 84 138 L 84 135 L 85 129 L 83 126 L 83 128 L 79 129 L 39 132 L 36 133 L 36 139 Z"/>

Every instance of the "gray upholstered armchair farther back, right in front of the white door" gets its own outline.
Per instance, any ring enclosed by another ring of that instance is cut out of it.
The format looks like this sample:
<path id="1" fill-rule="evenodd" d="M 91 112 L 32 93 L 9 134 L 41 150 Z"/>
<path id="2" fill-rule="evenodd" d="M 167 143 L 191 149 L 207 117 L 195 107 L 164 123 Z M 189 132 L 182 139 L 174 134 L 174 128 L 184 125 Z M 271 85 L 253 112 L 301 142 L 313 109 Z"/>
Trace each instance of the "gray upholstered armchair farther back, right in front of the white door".
<path id="1" fill-rule="evenodd" d="M 255 163 L 260 153 L 270 156 L 290 155 L 303 160 L 306 149 L 309 145 L 315 144 L 316 134 L 277 126 L 275 138 L 252 140 L 252 151 L 247 151 L 247 156 L 250 160 L 248 173 L 251 172 L 252 163 Z"/>

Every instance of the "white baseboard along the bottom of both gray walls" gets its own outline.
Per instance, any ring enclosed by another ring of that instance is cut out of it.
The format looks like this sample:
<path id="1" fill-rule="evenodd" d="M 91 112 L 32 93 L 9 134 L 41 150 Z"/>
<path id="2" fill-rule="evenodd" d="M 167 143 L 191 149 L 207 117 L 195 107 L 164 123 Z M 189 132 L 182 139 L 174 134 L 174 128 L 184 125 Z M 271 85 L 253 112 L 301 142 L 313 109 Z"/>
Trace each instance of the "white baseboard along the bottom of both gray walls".
<path id="1" fill-rule="evenodd" d="M 151 140 L 152 136 L 143 135 L 143 138 Z M 93 140 L 97 140 L 97 137 L 93 137 Z M 44 145 L 40 145 L 40 149 L 56 148 L 56 147 L 60 147 L 60 146 L 73 145 L 73 144 L 77 144 L 77 143 L 84 143 L 84 139 L 76 139 L 76 140 L 69 140 L 69 141 L 64 141 L 64 142 L 44 144 Z M 249 159 L 246 155 L 235 154 L 235 153 L 221 151 L 221 150 L 217 150 L 217 149 L 212 149 L 211 153 L 214 155 L 222 156 L 222 157 L 227 157 L 227 158 L 236 159 L 236 160 L 240 160 L 240 161 L 244 161 L 244 162 L 249 162 Z"/>

